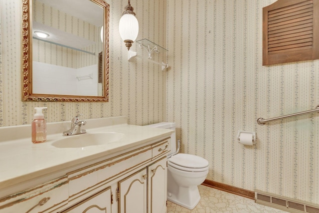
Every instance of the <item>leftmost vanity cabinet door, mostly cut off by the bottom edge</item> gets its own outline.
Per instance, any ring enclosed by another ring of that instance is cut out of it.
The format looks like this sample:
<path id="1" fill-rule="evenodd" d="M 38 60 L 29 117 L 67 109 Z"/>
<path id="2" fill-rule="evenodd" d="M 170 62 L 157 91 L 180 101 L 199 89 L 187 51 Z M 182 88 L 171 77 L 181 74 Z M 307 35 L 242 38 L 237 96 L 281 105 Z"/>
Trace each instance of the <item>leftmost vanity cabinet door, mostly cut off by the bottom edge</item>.
<path id="1" fill-rule="evenodd" d="M 62 213 L 111 213 L 111 187 L 85 199 Z"/>

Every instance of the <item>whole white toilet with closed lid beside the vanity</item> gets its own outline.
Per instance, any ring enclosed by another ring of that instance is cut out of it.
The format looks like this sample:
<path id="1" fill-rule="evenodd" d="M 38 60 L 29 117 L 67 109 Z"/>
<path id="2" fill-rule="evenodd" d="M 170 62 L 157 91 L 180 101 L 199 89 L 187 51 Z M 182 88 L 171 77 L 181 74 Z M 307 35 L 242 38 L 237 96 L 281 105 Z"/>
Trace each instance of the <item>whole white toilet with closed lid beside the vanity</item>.
<path id="1" fill-rule="evenodd" d="M 175 123 L 162 122 L 149 127 L 175 130 Z M 192 210 L 200 201 L 197 186 L 207 177 L 208 161 L 196 155 L 176 154 L 175 132 L 171 134 L 167 157 L 167 200 Z"/>

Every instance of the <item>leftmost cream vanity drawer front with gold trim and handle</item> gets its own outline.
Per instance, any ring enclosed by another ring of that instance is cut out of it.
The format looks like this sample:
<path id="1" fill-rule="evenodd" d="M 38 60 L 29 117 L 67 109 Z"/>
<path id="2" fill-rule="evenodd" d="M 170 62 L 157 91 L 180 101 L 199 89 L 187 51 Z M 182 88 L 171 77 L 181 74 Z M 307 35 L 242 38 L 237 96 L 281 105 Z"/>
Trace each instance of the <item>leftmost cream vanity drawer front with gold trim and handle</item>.
<path id="1" fill-rule="evenodd" d="M 0 213 L 48 213 L 67 204 L 66 176 L 0 199 Z"/>

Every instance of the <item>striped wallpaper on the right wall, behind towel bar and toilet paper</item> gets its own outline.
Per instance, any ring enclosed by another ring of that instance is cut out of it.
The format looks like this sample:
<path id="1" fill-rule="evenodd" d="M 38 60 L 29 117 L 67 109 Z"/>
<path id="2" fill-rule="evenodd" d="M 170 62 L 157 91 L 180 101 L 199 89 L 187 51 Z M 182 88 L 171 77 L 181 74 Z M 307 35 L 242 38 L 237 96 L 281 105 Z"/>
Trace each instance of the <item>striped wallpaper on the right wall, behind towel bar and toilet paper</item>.
<path id="1" fill-rule="evenodd" d="M 262 66 L 262 8 L 275 0 L 167 0 L 166 119 L 207 179 L 319 204 L 319 61 Z M 256 146 L 237 143 L 255 131 Z"/>

